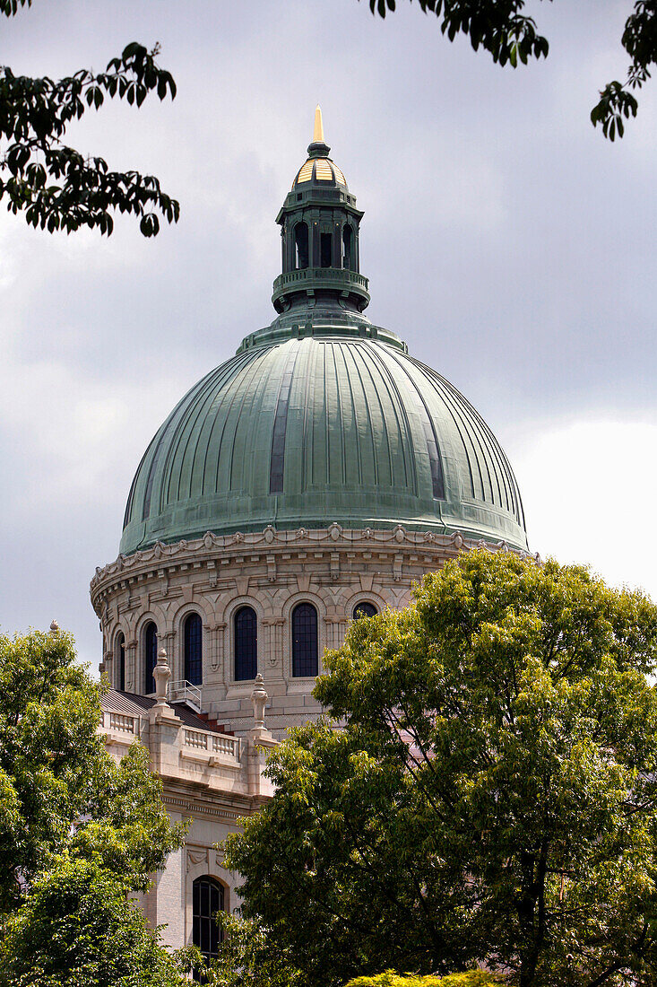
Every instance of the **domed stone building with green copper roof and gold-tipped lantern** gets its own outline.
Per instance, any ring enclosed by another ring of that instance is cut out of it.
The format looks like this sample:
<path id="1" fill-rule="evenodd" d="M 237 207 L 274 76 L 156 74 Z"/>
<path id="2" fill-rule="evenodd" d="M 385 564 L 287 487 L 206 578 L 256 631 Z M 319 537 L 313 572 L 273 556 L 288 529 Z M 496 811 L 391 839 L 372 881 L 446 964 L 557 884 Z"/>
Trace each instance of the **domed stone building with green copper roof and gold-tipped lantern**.
<path id="1" fill-rule="evenodd" d="M 237 768 L 231 789 L 223 765 L 213 804 L 224 805 L 227 825 L 257 808 L 265 783 L 258 775 L 250 791 L 249 778 L 260 741 L 273 744 L 320 714 L 312 691 L 322 655 L 350 621 L 403 606 L 415 580 L 475 544 L 527 551 L 518 486 L 486 423 L 364 315 L 362 217 L 329 157 L 318 108 L 308 158 L 276 218 L 276 318 L 159 428 L 132 482 L 120 554 L 92 580 L 114 715 L 128 717 L 129 707 L 153 737 L 158 716 L 184 721 L 175 727 L 182 751 L 185 732 L 203 734 L 194 762 L 202 778 L 176 781 L 184 751 L 170 759 L 171 780 L 161 771 L 179 816 L 172 792 L 178 785 L 179 801 L 207 799 L 212 758 L 203 757 L 229 740 L 244 791 Z M 158 698 L 156 679 L 169 676 Z M 252 707 L 263 690 L 267 729 L 261 718 L 254 726 Z M 206 871 L 222 835 L 208 834 L 187 848 Z M 215 870 L 228 895 L 232 878 L 216 861 Z M 170 921 L 161 911 L 153 919 Z M 190 928 L 185 918 L 176 945 Z"/>

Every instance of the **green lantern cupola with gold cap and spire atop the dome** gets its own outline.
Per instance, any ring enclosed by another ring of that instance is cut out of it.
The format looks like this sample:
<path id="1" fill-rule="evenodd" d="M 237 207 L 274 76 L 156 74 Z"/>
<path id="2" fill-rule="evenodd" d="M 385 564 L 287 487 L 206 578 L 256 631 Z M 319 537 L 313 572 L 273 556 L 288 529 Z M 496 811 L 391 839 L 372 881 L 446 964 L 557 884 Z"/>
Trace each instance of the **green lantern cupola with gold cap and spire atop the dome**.
<path id="1" fill-rule="evenodd" d="M 274 281 L 271 300 L 279 313 L 307 305 L 309 298 L 335 299 L 355 312 L 362 312 L 370 301 L 367 278 L 359 269 L 363 213 L 329 152 L 318 106 L 308 159 L 276 217 L 283 269 Z"/>

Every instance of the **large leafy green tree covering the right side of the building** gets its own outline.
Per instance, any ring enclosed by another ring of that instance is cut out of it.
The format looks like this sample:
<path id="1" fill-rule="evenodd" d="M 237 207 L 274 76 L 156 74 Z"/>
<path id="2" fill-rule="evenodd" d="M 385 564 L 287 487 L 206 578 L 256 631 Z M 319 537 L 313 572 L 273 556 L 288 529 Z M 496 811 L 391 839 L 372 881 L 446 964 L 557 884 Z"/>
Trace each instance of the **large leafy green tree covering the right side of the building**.
<path id="1" fill-rule="evenodd" d="M 428 575 L 328 652 L 331 721 L 273 753 L 227 841 L 245 917 L 308 985 L 475 961 L 654 982 L 656 658 L 657 607 L 586 569 L 475 551 Z"/>

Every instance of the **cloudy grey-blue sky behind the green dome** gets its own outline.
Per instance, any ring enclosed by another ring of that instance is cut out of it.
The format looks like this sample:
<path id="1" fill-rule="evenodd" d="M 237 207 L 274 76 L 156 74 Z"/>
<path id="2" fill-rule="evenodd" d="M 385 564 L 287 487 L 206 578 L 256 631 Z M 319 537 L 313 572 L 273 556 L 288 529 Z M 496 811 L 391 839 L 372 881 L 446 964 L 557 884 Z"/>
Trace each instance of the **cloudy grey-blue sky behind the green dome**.
<path id="1" fill-rule="evenodd" d="M 0 629 L 101 659 L 89 580 L 185 391 L 268 325 L 274 219 L 322 105 L 364 209 L 367 312 L 461 390 L 504 447 L 530 545 L 657 598 L 657 81 L 612 144 L 631 0 L 530 2 L 547 60 L 502 69 L 419 5 L 58 0 L 3 23 L 16 74 L 97 71 L 162 45 L 172 103 L 115 102 L 68 142 L 157 175 L 177 226 L 145 240 L 29 229 L 0 202 Z"/>

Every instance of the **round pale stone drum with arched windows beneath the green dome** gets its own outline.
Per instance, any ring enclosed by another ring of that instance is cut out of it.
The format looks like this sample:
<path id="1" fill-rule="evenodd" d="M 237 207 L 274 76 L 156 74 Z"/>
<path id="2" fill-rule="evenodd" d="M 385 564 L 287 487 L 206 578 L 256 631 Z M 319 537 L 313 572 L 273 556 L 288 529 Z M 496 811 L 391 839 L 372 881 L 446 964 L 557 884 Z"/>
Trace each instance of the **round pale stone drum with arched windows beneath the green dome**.
<path id="1" fill-rule="evenodd" d="M 290 615 L 303 601 L 319 614 L 319 651 L 338 647 L 360 602 L 383 610 L 411 599 L 413 583 L 439 569 L 474 543 L 451 536 L 406 531 L 320 530 L 261 532 L 202 538 L 119 557 L 98 569 L 91 584 L 101 620 L 105 661 L 117 685 L 117 636 L 125 640 L 125 688 L 141 692 L 143 631 L 154 621 L 169 655 L 172 675 L 183 675 L 185 617 L 195 612 L 203 625 L 203 711 L 238 734 L 253 726 L 251 681 L 234 675 L 234 615 L 249 604 L 257 615 L 257 670 L 269 702 L 267 725 L 275 737 L 288 726 L 316 718 L 314 678 L 295 678 L 291 667 Z M 504 548 L 504 543 L 498 544 Z M 322 659 L 320 658 L 320 672 Z"/>

